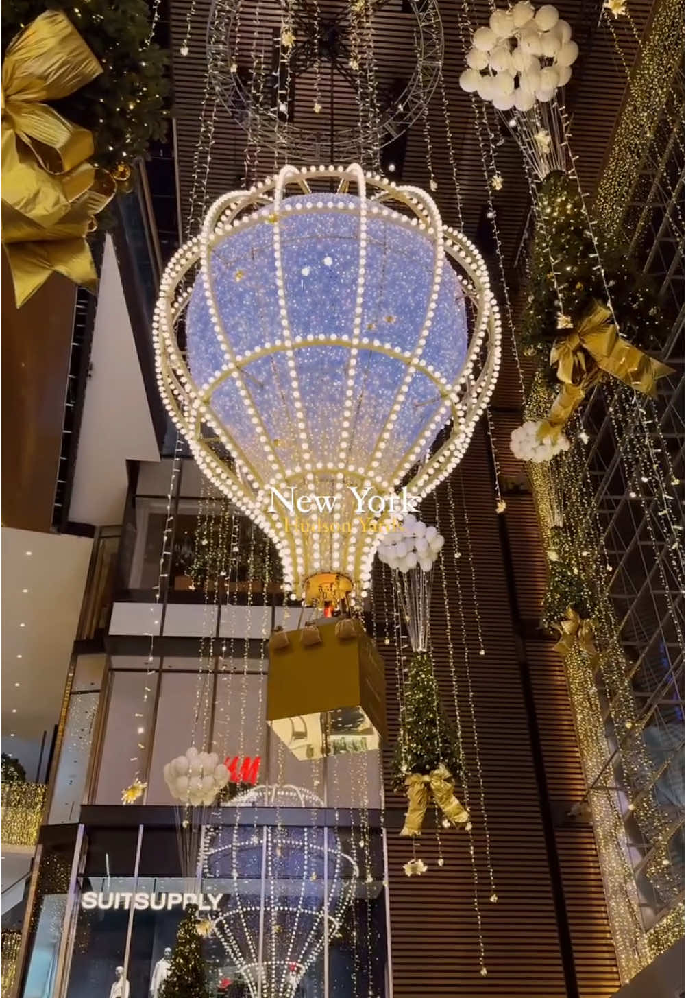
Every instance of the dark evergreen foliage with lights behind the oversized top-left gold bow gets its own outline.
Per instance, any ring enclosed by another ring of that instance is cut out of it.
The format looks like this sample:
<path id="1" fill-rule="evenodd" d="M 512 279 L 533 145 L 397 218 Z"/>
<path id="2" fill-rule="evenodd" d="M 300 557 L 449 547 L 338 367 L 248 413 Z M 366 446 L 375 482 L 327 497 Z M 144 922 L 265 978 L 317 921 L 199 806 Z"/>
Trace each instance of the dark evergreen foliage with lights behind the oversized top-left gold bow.
<path id="1" fill-rule="evenodd" d="M 145 156 L 167 134 L 169 54 L 148 45 L 151 13 L 146 0 L 11 0 L 2 7 L 3 57 L 22 28 L 46 9 L 62 10 L 91 48 L 103 73 L 70 97 L 53 102 L 70 121 L 93 132 L 92 162 L 108 171 Z"/>

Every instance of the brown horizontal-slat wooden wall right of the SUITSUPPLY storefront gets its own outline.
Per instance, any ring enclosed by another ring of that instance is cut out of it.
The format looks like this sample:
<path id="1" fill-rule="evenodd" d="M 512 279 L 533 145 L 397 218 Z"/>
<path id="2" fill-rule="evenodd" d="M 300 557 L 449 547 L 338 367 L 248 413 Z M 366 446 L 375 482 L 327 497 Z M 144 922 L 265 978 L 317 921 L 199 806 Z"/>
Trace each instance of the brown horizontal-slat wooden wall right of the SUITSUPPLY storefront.
<path id="1" fill-rule="evenodd" d="M 422 877 L 408 878 L 403 863 L 411 857 L 406 840 L 389 833 L 389 890 L 393 993 L 396 998 L 439 998 L 444 995 L 485 995 L 489 998 L 562 998 L 564 984 L 560 946 L 548 872 L 538 789 L 531 758 L 530 737 L 524 709 L 519 666 L 510 614 L 506 573 L 495 512 L 493 484 L 487 450 L 478 432 L 461 469 L 454 476 L 459 543 L 466 551 L 459 476 L 467 496 L 472 544 L 475 552 L 479 611 L 486 656 L 479 656 L 479 643 L 472 597 L 472 579 L 467 554 L 454 558 L 450 537 L 449 507 L 445 485 L 438 491 L 440 523 L 446 536 L 451 601 L 451 629 L 455 663 L 464 694 L 464 658 L 460 641 L 455 573 L 460 572 L 466 625 L 471 652 L 489 827 L 499 895 L 489 902 L 484 828 L 479 812 L 475 755 L 469 734 L 466 695 L 461 713 L 466 729 L 466 753 L 472 774 L 471 792 L 475 812 L 475 842 L 481 881 L 482 917 L 488 977 L 479 976 L 478 936 L 473 901 L 473 881 L 468 837 L 457 831 L 443 832 L 446 864 L 436 865 L 433 832 L 425 834 L 419 854 L 429 863 Z M 426 506 L 427 519 L 434 518 L 433 499 Z M 377 582 L 377 605 L 382 599 Z M 432 621 L 434 662 L 447 707 L 453 705 L 449 668 L 443 586 L 436 579 Z M 392 649 L 381 645 L 387 657 L 387 703 L 391 739 L 397 733 L 395 659 Z M 395 795 L 390 806 L 403 806 Z"/>

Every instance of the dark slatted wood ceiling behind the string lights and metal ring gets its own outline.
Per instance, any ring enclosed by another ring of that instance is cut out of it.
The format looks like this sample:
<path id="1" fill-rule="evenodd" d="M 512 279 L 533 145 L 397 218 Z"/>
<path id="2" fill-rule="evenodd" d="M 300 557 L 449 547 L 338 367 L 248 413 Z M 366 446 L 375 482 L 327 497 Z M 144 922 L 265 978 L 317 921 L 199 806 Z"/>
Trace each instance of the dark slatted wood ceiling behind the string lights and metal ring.
<path id="1" fill-rule="evenodd" d="M 320 9 L 326 11 L 327 0 L 322 0 Z M 340 3 L 328 0 L 329 5 L 340 8 Z M 480 221 L 487 202 L 487 188 L 480 146 L 475 129 L 473 104 L 469 95 L 459 87 L 459 77 L 465 67 L 463 37 L 465 33 L 464 12 L 461 5 L 449 0 L 439 2 L 445 35 L 444 80 L 447 103 L 452 127 L 453 145 L 458 165 L 460 194 L 464 227 L 468 235 L 480 235 Z M 598 24 L 600 3 L 597 0 L 562 0 L 558 3 L 561 16 L 572 26 L 574 37 L 579 42 L 581 55 L 574 67 L 572 84 L 567 87 L 567 102 L 573 119 L 573 148 L 578 155 L 577 167 L 584 190 L 592 191 L 597 183 L 599 171 L 604 161 L 617 113 L 621 106 L 626 85 L 626 68 L 633 64 L 637 43 L 633 31 L 626 20 L 614 25 L 620 41 L 623 62 L 615 52 L 612 35 L 605 22 Z M 647 0 L 632 0 L 631 12 L 636 33 L 644 30 L 650 3 Z M 177 163 L 181 214 L 187 218 L 187 206 L 192 187 L 193 174 L 197 167 L 197 144 L 200 131 L 200 109 L 205 88 L 205 30 L 209 15 L 208 0 L 197 0 L 193 5 L 192 33 L 188 55 L 183 57 L 179 49 L 185 37 L 186 17 L 190 0 L 172 0 L 172 73 L 174 84 L 174 117 L 176 120 Z M 249 62 L 252 25 L 257 0 L 242 6 L 240 46 Z M 472 26 L 485 23 L 489 7 L 484 0 L 471 5 Z M 258 9 L 261 30 L 268 34 L 278 28 L 276 0 L 262 0 Z M 391 0 L 378 15 L 378 28 L 375 32 L 374 58 L 381 85 L 403 77 L 407 78 L 415 62 L 411 40 L 411 15 L 403 11 L 401 0 Z M 468 31 L 470 30 L 468 26 Z M 323 133 L 328 129 L 329 91 L 325 64 L 322 64 L 320 100 Z M 295 91 L 295 120 L 304 124 L 319 124 L 311 112 L 314 103 L 314 73 L 308 72 L 298 78 Z M 219 194 L 236 186 L 244 173 L 244 152 L 246 133 L 221 105 L 216 105 L 215 114 L 209 109 L 212 118 L 213 143 L 211 161 L 206 177 L 207 199 L 211 201 Z M 479 103 L 479 102 L 478 102 Z M 334 89 L 335 123 L 337 128 L 355 127 L 358 122 L 358 108 L 348 84 L 340 77 L 335 79 Z M 431 101 L 430 128 L 432 136 L 433 168 L 438 182 L 436 199 L 445 220 L 457 224 L 456 191 L 448 155 L 445 116 L 440 88 L 437 88 Z M 495 119 L 492 121 L 497 127 Z M 496 134 L 496 133 L 494 133 Z M 520 155 L 512 138 L 497 150 L 498 169 L 505 178 L 503 190 L 495 197 L 498 224 L 508 263 L 512 263 L 521 238 L 527 214 L 527 188 L 521 171 Z M 259 176 L 273 171 L 273 154 L 262 150 L 258 156 Z M 409 131 L 405 151 L 402 180 L 428 188 L 429 172 L 424 129 L 421 121 Z M 204 170 L 199 189 L 204 188 Z"/>

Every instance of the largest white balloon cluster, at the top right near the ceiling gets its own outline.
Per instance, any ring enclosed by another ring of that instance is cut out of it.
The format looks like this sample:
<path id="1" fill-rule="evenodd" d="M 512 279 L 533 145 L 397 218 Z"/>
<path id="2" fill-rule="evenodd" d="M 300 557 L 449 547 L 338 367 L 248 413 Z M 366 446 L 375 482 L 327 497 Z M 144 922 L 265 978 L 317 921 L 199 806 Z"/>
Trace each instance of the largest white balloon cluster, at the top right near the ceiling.
<path id="1" fill-rule="evenodd" d="M 545 4 L 534 10 L 528 0 L 495 10 L 489 27 L 475 32 L 472 45 L 460 86 L 499 111 L 530 111 L 536 101 L 551 100 L 568 83 L 578 56 L 571 28 L 557 8 Z"/>

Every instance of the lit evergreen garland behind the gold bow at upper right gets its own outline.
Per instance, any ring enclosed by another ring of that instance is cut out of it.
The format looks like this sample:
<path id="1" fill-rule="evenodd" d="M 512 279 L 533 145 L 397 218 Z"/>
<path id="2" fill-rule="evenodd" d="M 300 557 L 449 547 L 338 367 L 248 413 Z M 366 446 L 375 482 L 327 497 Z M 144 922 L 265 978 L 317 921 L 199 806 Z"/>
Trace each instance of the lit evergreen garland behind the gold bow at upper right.
<path id="1" fill-rule="evenodd" d="M 538 355 L 547 363 L 554 340 L 570 331 L 557 328 L 558 313 L 569 316 L 576 326 L 594 301 L 607 302 L 607 291 L 575 181 L 566 174 L 548 174 L 540 184 L 537 206 L 519 338 L 528 356 Z M 643 348 L 654 345 L 659 341 L 662 315 L 650 282 L 632 265 L 625 248 L 604 236 L 596 223 L 594 231 L 619 334 Z M 549 376 L 554 378 L 552 368 Z"/>

